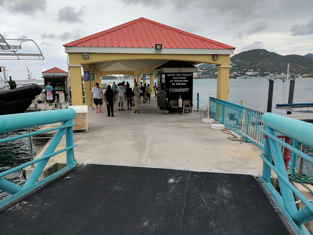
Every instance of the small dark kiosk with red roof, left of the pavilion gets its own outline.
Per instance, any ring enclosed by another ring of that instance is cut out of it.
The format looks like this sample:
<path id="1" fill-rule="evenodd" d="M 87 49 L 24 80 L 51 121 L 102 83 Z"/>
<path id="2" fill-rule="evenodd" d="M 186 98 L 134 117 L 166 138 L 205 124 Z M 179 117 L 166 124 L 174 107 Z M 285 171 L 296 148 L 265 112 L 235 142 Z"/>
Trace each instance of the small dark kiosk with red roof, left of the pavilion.
<path id="1" fill-rule="evenodd" d="M 67 98 L 69 93 L 69 88 L 67 87 L 67 77 L 67 72 L 56 67 L 42 72 L 44 86 L 47 86 L 47 83 L 50 82 L 53 87 L 53 100 L 55 97 L 59 99 L 60 93 L 64 93 L 65 99 Z"/>

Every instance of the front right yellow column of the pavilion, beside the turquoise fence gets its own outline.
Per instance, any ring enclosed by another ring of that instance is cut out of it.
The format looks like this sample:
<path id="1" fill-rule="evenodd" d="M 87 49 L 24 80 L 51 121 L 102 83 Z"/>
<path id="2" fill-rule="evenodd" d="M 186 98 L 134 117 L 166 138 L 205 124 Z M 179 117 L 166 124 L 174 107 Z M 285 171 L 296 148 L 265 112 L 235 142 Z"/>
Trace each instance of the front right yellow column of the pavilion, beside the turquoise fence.
<path id="1" fill-rule="evenodd" d="M 228 65 L 216 66 L 217 69 L 217 91 L 216 98 L 228 101 L 229 67 Z"/>

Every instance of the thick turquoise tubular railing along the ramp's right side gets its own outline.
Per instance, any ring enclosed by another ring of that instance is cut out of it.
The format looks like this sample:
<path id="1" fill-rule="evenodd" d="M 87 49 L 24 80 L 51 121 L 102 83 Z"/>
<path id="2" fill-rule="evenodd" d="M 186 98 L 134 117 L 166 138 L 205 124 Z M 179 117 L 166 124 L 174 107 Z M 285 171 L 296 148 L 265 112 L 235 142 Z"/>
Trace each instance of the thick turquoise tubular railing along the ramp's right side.
<path id="1" fill-rule="evenodd" d="M 296 144 L 292 146 L 277 138 L 277 132 L 292 138 L 294 143 L 300 142 L 313 148 L 313 124 L 273 113 L 263 114 L 262 123 L 264 124 L 262 132 L 266 137 L 264 138 L 264 153 L 260 154 L 264 162 L 262 176 L 259 175 L 259 180 L 269 191 L 295 232 L 297 234 L 310 234 L 303 224 L 313 219 L 313 205 L 290 183 L 281 145 L 311 164 L 313 164 L 313 159 L 297 149 Z M 272 164 L 272 158 L 275 165 Z M 271 170 L 277 175 L 280 193 L 271 184 Z M 305 207 L 297 210 L 294 195 L 303 202 Z"/>

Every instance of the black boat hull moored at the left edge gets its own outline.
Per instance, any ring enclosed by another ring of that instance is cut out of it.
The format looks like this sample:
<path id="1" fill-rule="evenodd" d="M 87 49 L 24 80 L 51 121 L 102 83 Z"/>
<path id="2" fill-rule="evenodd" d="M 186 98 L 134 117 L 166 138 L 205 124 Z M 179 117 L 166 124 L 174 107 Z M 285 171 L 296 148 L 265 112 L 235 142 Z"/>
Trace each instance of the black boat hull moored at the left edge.
<path id="1" fill-rule="evenodd" d="M 37 84 L 0 91 L 0 115 L 25 112 L 41 91 Z"/>

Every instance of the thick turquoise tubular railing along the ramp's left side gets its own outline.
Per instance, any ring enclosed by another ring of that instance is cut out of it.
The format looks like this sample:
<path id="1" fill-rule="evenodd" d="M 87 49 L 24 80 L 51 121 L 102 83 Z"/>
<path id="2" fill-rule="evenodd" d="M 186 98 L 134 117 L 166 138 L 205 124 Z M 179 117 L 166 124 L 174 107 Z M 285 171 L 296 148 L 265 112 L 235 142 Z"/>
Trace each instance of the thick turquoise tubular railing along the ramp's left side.
<path id="1" fill-rule="evenodd" d="M 74 111 L 74 109 L 59 109 L 43 112 L 28 112 L 0 116 L 0 133 L 7 133 L 11 131 L 32 128 L 35 126 L 62 122 L 62 124 L 59 127 L 39 130 L 36 132 L 0 139 L 0 143 L 6 143 L 8 141 L 57 130 L 57 132 L 54 134 L 54 137 L 51 139 L 49 145 L 47 146 L 46 150 L 44 151 L 40 158 L 0 173 L 0 190 L 12 194 L 12 196 L 0 202 L 0 207 L 15 200 L 19 196 L 22 196 L 25 193 L 33 190 L 39 185 L 46 183 L 47 181 L 53 179 L 57 175 L 62 174 L 63 172 L 76 166 L 76 160 L 74 159 L 74 147 L 76 147 L 76 145 L 73 144 L 73 126 L 76 125 L 76 123 L 73 123 L 73 119 L 75 118 L 75 116 L 76 112 Z M 66 147 L 64 149 L 54 152 L 55 148 L 59 144 L 64 134 L 66 134 Z M 44 178 L 43 180 L 36 182 L 41 172 L 44 170 L 44 167 L 49 161 L 50 157 L 65 151 L 67 166 L 62 170 L 59 170 L 58 172 L 55 172 L 54 174 Z M 23 187 L 15 185 L 9 182 L 8 180 L 1 178 L 12 172 L 22 170 L 24 167 L 27 167 L 35 163 L 37 164 L 34 167 L 28 179 L 26 180 Z"/>

